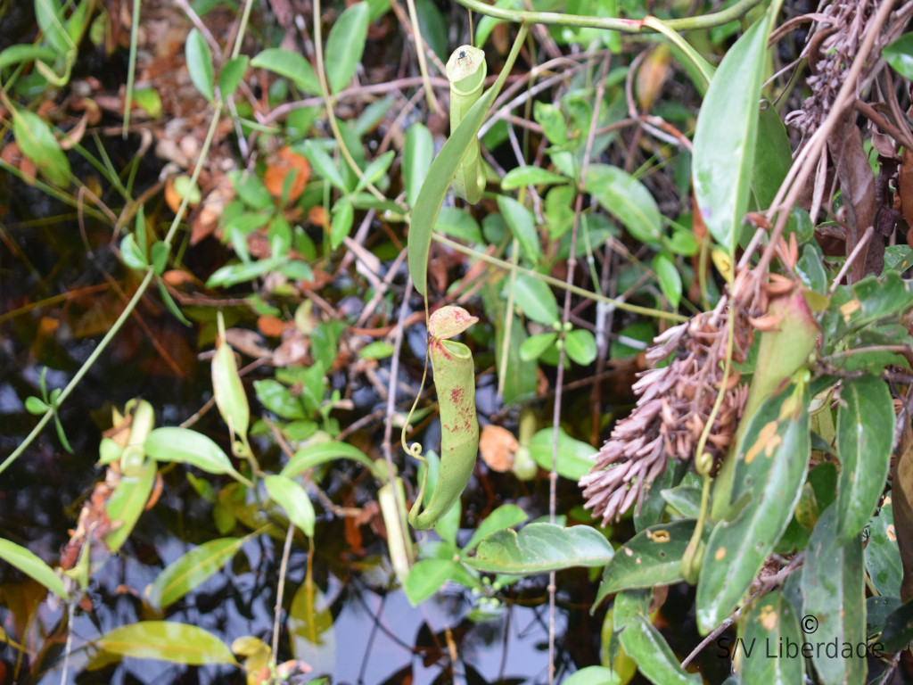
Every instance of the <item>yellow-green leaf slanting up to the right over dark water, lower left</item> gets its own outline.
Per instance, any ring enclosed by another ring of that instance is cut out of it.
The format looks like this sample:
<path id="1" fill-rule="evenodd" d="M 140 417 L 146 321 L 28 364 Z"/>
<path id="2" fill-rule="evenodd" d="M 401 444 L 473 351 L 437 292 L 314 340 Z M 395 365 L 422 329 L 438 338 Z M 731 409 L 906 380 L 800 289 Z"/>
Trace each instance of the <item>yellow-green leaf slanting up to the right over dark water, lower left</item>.
<path id="1" fill-rule="evenodd" d="M 149 603 L 161 609 L 173 605 L 230 562 L 246 540 L 216 538 L 194 547 L 168 564 L 146 588 Z"/>

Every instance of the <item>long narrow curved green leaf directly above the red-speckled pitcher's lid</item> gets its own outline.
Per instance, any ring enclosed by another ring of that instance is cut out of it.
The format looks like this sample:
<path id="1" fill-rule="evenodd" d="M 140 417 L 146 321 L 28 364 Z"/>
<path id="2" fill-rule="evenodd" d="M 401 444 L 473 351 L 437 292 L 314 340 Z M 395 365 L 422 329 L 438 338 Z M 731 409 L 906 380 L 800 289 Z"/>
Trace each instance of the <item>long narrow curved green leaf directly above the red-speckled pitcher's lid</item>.
<path id="1" fill-rule="evenodd" d="M 415 201 L 412 221 L 409 224 L 409 274 L 415 283 L 415 290 L 420 295 L 424 295 L 427 290 L 431 233 L 435 227 L 437 213 L 441 210 L 441 203 L 444 202 L 447 187 L 456 174 L 456 167 L 469 149 L 469 143 L 476 139 L 482 121 L 488 114 L 488 108 L 497 95 L 496 89 L 489 88 L 467 112 L 456 131 L 450 133 L 441 152 L 431 163 L 428 176 Z"/>

